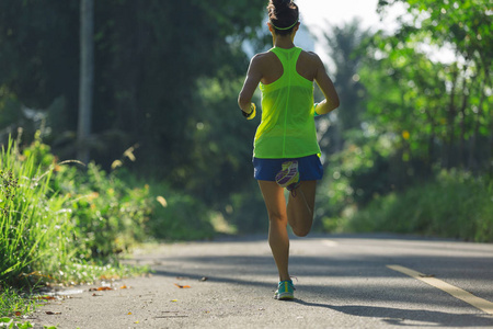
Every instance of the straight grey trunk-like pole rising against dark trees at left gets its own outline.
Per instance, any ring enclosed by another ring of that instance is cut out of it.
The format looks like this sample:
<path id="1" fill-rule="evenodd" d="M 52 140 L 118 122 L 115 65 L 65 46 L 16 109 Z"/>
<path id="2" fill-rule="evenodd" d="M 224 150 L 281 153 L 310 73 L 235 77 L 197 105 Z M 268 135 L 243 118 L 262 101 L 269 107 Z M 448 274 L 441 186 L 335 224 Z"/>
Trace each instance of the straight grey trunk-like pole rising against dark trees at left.
<path id="1" fill-rule="evenodd" d="M 80 0 L 80 77 L 77 158 L 89 162 L 89 136 L 94 81 L 94 0 Z"/>

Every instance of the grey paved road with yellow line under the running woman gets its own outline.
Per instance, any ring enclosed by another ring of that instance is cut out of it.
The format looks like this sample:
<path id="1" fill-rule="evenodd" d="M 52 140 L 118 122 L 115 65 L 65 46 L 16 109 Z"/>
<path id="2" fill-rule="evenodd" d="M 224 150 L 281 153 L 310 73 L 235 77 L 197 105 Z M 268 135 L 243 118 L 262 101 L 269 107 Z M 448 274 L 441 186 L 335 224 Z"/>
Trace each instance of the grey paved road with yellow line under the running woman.
<path id="1" fill-rule="evenodd" d="M 398 236 L 293 239 L 294 302 L 272 298 L 277 274 L 265 237 L 162 245 L 134 261 L 156 273 L 96 296 L 84 288 L 39 308 L 32 321 L 59 328 L 493 328 L 493 245 Z"/>

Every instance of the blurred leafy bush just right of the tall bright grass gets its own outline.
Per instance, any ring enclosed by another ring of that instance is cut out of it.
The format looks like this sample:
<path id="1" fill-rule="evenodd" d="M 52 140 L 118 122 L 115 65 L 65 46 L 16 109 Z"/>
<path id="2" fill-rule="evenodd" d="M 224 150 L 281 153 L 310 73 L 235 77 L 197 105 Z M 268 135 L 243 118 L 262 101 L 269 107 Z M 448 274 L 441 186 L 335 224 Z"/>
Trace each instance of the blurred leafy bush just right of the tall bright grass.
<path id="1" fill-rule="evenodd" d="M 146 239 L 151 214 L 148 186 L 130 189 L 91 162 L 83 173 L 59 167 L 53 188 L 68 196 L 79 258 L 107 261 Z"/>

